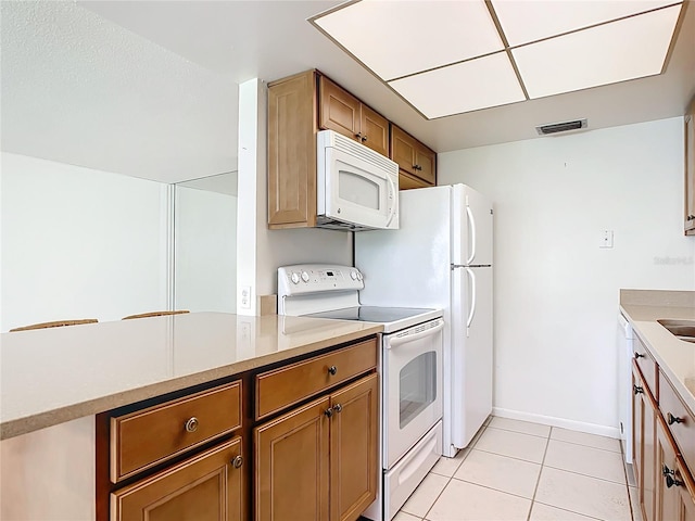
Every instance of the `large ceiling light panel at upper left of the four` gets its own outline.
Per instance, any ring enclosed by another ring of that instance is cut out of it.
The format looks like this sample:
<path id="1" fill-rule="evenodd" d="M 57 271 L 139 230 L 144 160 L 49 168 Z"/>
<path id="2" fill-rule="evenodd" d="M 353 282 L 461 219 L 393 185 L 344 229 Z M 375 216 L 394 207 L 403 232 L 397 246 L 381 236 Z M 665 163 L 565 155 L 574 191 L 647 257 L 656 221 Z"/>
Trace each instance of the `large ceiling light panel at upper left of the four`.
<path id="1" fill-rule="evenodd" d="M 313 23 L 384 80 L 503 49 L 482 0 L 363 0 Z"/>

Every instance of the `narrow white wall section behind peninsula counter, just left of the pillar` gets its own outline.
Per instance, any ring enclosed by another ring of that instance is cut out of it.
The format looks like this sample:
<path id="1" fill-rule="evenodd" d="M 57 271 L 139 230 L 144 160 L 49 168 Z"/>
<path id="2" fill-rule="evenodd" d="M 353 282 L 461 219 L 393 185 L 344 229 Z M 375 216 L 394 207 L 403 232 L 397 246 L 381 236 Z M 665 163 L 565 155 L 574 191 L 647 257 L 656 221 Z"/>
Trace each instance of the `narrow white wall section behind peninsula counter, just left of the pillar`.
<path id="1" fill-rule="evenodd" d="M 175 208 L 174 307 L 235 313 L 237 198 L 177 186 Z"/>

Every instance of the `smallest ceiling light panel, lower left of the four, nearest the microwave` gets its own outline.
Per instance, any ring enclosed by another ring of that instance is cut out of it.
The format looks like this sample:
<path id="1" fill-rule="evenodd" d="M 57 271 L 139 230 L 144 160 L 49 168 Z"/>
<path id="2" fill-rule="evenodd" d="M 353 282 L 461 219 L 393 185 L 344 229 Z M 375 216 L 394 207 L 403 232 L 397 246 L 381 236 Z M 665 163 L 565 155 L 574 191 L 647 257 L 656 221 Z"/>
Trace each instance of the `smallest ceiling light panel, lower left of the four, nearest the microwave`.
<path id="1" fill-rule="evenodd" d="M 389 85 L 430 119 L 526 99 L 505 52 L 408 76 Z"/>

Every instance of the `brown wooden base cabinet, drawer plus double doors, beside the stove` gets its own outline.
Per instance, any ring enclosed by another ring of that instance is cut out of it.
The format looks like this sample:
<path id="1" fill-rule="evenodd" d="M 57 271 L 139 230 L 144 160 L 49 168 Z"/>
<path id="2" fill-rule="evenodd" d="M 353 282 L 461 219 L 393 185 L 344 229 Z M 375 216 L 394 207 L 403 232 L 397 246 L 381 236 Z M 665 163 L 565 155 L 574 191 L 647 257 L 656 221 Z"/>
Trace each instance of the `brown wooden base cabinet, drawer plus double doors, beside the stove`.
<path id="1" fill-rule="evenodd" d="M 355 521 L 376 499 L 376 355 L 368 341 L 257 377 L 257 414 L 283 412 L 253 430 L 256 521 Z"/>

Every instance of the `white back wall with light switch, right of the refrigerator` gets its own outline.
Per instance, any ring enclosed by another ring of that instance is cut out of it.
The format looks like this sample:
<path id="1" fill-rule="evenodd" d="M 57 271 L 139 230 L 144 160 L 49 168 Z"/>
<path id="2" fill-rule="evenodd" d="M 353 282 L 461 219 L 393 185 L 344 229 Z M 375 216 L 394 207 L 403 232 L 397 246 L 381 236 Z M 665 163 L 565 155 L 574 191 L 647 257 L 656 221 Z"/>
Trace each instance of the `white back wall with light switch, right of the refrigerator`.
<path id="1" fill-rule="evenodd" d="M 682 127 L 678 117 L 439 155 L 440 185 L 494 201 L 498 414 L 617 435 L 619 289 L 695 289 Z M 598 247 L 602 230 L 615 247 Z"/>

